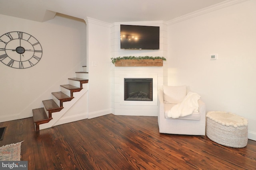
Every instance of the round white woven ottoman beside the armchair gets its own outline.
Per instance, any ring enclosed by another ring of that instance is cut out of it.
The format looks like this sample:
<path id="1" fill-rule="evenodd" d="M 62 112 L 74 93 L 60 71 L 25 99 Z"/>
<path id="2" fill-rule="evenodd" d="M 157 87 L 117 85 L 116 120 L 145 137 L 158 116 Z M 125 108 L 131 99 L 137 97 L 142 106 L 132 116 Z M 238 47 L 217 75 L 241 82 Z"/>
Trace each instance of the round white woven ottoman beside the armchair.
<path id="1" fill-rule="evenodd" d="M 209 111 L 206 114 L 206 135 L 221 145 L 242 148 L 248 142 L 248 121 L 225 111 Z"/>

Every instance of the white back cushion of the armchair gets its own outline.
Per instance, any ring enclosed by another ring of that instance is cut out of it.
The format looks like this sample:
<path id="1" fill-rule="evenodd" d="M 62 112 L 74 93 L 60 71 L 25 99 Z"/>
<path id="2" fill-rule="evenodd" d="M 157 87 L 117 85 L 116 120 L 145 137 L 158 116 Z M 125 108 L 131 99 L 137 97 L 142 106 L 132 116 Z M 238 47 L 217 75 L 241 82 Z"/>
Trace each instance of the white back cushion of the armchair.
<path id="1" fill-rule="evenodd" d="M 164 103 L 178 104 L 186 97 L 187 89 L 184 86 L 163 86 L 164 90 Z"/>

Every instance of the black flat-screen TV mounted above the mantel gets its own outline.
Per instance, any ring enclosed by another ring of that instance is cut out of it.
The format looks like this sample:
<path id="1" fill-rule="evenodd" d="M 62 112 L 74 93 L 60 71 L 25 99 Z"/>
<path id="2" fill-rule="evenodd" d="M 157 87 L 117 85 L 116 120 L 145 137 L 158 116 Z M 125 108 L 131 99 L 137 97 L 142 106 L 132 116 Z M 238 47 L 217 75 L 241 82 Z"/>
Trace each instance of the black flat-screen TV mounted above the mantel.
<path id="1" fill-rule="evenodd" d="M 160 27 L 120 25 L 120 48 L 134 50 L 159 49 Z"/>

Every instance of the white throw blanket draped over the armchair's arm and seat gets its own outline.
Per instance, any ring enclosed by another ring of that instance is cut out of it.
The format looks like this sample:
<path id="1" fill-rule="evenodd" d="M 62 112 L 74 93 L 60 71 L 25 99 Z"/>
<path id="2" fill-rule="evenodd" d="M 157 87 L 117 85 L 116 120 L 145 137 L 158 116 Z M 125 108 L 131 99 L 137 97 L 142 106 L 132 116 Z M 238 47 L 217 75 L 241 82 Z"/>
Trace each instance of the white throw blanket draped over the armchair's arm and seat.
<path id="1" fill-rule="evenodd" d="M 174 105 L 170 111 L 168 111 L 167 116 L 178 118 L 191 115 L 193 112 L 198 112 L 198 100 L 200 98 L 197 93 L 188 92 L 181 103 Z"/>

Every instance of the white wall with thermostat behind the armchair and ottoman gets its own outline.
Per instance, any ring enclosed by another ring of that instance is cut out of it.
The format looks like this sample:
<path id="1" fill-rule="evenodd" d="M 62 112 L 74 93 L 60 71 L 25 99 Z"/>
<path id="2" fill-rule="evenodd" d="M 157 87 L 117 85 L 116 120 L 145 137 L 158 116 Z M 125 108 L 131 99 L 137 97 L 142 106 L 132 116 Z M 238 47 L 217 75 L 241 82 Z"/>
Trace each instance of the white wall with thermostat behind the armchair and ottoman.
<path id="1" fill-rule="evenodd" d="M 168 85 L 186 84 L 206 111 L 248 119 L 256 140 L 256 1 L 248 0 L 168 26 Z M 211 54 L 218 60 L 210 60 Z"/>

